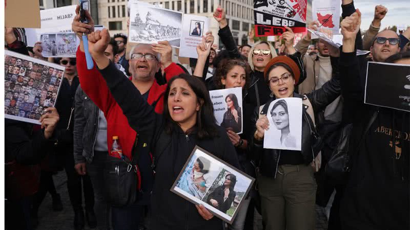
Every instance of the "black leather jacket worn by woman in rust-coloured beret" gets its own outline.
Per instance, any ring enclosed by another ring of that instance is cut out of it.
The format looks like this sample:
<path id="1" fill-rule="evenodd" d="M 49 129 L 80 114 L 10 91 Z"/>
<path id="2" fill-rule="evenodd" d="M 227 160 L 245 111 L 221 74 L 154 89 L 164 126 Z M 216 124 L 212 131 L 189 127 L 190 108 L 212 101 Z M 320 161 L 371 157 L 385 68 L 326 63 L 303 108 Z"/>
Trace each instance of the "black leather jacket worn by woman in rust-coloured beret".
<path id="1" fill-rule="evenodd" d="M 334 59 L 334 58 L 332 58 Z M 333 61 L 334 62 L 334 61 Z M 339 83 L 339 74 L 337 73 L 338 68 L 333 68 L 333 77 L 330 81 L 326 82 L 322 88 L 312 91 L 312 93 L 307 94 L 307 98 L 310 100 L 313 106 L 313 111 L 317 112 L 324 109 L 327 105 L 332 103 L 340 95 L 340 83 Z M 306 97 L 294 93 L 294 97 L 302 98 L 306 100 Z M 267 114 L 269 105 L 275 98 L 270 99 L 265 105 L 261 114 Z M 303 105 L 303 114 L 302 114 L 302 150 L 299 151 L 302 154 L 304 164 L 308 165 L 312 162 L 314 157 L 319 153 L 320 149 L 312 148 L 315 143 L 312 143 L 312 132 L 317 131 L 313 125 L 313 122 L 306 112 L 308 106 Z M 259 108 L 255 108 L 253 117 L 251 119 L 253 132 L 256 131 L 256 122 L 259 119 Z M 255 160 L 260 167 L 260 173 L 264 176 L 276 177 L 277 167 L 279 163 L 279 157 L 281 150 L 279 149 L 264 149 L 263 140 L 259 142 L 252 138 L 252 151 L 255 155 Z"/>

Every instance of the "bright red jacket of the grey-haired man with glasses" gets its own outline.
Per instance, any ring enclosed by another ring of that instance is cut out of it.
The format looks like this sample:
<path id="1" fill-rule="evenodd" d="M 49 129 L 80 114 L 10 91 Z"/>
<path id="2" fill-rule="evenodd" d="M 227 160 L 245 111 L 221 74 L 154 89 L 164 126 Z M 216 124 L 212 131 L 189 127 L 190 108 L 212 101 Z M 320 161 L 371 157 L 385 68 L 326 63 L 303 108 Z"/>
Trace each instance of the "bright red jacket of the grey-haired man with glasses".
<path id="1" fill-rule="evenodd" d="M 131 159 L 131 151 L 137 133 L 128 124 L 127 118 L 124 116 L 121 108 L 111 95 L 103 76 L 101 76 L 101 74 L 97 70 L 95 62 L 94 68 L 92 70 L 87 70 L 85 53 L 81 52 L 78 48 L 76 56 L 77 72 L 81 88 L 98 106 L 98 108 L 104 112 L 104 116 L 107 119 L 108 149 L 111 149 L 112 137 L 118 136 L 120 145 L 122 147 L 122 153 L 125 154 L 129 159 Z M 182 68 L 175 63 L 172 63 L 167 68 L 165 68 L 164 72 L 166 73 L 167 80 L 179 74 L 185 73 Z M 156 81 L 154 81 L 150 88 L 150 92 L 148 94 L 148 103 L 151 105 L 153 102 L 158 101 L 155 106 L 155 112 L 157 113 L 162 113 L 163 95 L 166 88 L 167 84 L 158 85 Z"/>

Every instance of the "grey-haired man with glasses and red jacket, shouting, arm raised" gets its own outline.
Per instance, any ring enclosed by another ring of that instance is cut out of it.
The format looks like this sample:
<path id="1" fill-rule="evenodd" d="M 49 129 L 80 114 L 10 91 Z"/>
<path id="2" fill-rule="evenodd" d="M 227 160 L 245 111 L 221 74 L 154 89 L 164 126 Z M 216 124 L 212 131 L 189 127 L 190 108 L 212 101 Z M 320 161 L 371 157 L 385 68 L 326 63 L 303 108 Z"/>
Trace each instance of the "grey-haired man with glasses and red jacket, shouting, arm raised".
<path id="1" fill-rule="evenodd" d="M 83 33 L 94 31 L 94 21 L 87 13 L 89 24 L 84 24 L 79 21 L 79 9 L 77 7 L 77 15 L 74 17 L 72 29 L 81 39 Z M 98 36 L 103 34 L 106 38 L 109 37 L 108 31 L 105 29 L 96 33 Z M 114 38 L 119 40 L 120 38 Z M 106 42 L 109 42 L 108 40 Z M 121 42 L 122 43 L 122 42 Z M 124 51 L 125 53 L 125 51 Z M 122 154 L 132 159 L 134 143 L 137 133 L 132 129 L 127 118 L 122 113 L 122 109 L 115 102 L 111 95 L 107 84 L 97 70 L 96 65 L 92 70 L 87 70 L 86 57 L 84 53 L 84 44 L 81 40 L 79 49 L 77 50 L 77 71 L 81 88 L 89 96 L 89 98 L 103 111 L 107 119 L 107 148 L 111 149 L 112 137 L 118 136 L 122 147 Z M 167 85 L 158 85 L 155 80 L 155 73 L 161 67 L 166 74 L 167 80 L 172 77 L 184 73 L 182 68 L 172 62 L 172 48 L 168 41 L 160 41 L 158 44 L 138 44 L 132 48 L 130 52 L 129 71 L 131 73 L 130 81 L 141 92 L 147 102 L 155 108 L 155 112 L 162 113 L 163 96 Z M 123 76 L 118 76 L 123 77 Z M 144 141 L 144 135 L 138 135 L 138 142 Z M 138 150 L 136 149 L 138 154 Z M 105 152 L 108 155 L 108 151 Z M 141 191 L 144 192 L 141 198 L 134 204 L 124 208 L 111 207 L 112 226 L 115 229 L 137 229 L 138 223 L 142 222 L 139 218 L 142 215 L 142 205 L 149 203 L 149 195 L 152 190 L 153 169 L 151 168 L 152 158 L 148 154 L 139 156 L 139 170 L 141 172 Z M 146 164 L 142 164 L 146 163 Z M 84 173 L 87 173 L 84 171 Z M 94 183 L 94 181 L 93 181 Z"/>

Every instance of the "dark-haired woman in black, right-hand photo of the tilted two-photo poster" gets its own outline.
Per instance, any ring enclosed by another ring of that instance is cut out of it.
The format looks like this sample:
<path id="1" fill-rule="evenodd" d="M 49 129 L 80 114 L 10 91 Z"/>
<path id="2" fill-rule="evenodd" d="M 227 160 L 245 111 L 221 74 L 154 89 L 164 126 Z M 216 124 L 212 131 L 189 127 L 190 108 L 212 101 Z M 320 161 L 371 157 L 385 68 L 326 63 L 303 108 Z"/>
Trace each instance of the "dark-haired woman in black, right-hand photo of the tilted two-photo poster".
<path id="1" fill-rule="evenodd" d="M 234 174 L 226 175 L 223 185 L 219 186 L 211 194 L 209 194 L 207 202 L 222 213 L 227 213 L 235 200 L 235 185 L 236 176 Z"/>

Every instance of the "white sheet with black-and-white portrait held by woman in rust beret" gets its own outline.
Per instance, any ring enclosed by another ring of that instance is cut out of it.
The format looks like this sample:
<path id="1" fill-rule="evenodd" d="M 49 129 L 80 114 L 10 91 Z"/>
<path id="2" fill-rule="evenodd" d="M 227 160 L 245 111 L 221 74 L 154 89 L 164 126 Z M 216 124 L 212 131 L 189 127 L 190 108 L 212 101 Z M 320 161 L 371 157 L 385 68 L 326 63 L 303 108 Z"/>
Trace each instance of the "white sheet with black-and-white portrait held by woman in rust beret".
<path id="1" fill-rule="evenodd" d="M 269 130 L 265 130 L 263 148 L 301 150 L 302 99 L 280 98 L 271 102 L 266 114 Z"/>

